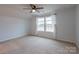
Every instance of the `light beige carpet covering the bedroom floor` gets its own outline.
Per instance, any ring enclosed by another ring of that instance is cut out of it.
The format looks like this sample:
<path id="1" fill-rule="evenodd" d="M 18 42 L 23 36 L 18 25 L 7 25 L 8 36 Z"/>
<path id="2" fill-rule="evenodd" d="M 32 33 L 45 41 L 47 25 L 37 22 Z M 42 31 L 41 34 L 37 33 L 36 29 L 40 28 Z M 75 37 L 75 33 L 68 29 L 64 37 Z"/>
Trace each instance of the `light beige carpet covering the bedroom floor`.
<path id="1" fill-rule="evenodd" d="M 76 52 L 74 44 L 35 36 L 0 43 L 0 53 L 8 54 L 67 54 Z"/>

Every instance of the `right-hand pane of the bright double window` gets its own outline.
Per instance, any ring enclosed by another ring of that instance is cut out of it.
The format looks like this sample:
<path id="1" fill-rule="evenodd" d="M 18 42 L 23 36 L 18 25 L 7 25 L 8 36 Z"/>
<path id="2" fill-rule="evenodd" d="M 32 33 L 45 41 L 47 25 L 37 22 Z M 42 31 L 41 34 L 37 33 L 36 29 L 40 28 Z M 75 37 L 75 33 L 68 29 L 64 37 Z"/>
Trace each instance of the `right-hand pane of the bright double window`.
<path id="1" fill-rule="evenodd" d="M 54 32 L 55 24 L 56 24 L 55 15 L 46 17 L 46 31 L 47 32 Z"/>

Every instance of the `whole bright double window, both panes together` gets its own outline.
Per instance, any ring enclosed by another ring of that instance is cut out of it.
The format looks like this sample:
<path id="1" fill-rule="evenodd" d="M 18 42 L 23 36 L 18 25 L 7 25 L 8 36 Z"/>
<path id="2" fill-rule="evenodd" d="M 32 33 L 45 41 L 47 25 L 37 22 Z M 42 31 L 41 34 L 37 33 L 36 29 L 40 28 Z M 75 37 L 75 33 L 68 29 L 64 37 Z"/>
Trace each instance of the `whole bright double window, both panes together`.
<path id="1" fill-rule="evenodd" d="M 56 24 L 56 16 L 37 18 L 37 31 L 54 32 Z"/>

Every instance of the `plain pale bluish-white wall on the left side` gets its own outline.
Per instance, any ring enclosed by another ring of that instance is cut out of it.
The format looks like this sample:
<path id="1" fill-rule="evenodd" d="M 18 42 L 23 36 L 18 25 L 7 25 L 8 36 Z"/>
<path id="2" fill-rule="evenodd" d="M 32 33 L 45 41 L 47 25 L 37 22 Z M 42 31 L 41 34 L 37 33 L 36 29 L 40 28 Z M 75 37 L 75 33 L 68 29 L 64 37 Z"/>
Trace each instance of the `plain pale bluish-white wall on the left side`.
<path id="1" fill-rule="evenodd" d="M 0 42 L 27 35 L 28 31 L 28 19 L 0 16 Z"/>

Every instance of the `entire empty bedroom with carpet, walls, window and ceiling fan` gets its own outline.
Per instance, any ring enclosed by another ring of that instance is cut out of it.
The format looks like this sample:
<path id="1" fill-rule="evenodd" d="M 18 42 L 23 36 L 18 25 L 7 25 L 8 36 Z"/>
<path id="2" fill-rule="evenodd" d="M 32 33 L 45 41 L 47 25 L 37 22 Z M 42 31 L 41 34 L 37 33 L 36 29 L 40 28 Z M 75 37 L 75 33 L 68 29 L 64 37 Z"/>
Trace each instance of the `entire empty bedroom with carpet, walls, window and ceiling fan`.
<path id="1" fill-rule="evenodd" d="M 78 54 L 79 5 L 0 4 L 0 54 Z"/>

